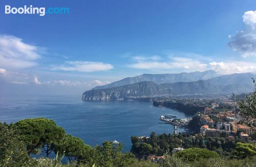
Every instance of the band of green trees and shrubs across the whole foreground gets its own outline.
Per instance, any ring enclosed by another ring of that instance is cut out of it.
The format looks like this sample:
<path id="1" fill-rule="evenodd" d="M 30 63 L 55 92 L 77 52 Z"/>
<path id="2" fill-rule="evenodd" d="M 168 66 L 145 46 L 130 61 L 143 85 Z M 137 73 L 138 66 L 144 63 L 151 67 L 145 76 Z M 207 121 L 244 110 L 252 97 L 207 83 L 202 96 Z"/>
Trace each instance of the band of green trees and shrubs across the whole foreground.
<path id="1" fill-rule="evenodd" d="M 44 123 L 46 125 L 43 125 Z M 56 134 L 53 134 L 53 132 L 56 132 Z M 57 127 L 53 121 L 47 120 L 46 118 L 26 119 L 14 125 L 0 123 L 0 166 L 256 166 L 256 146 L 252 145 L 253 142 L 250 140 L 229 139 L 228 137 L 190 137 L 185 134 L 157 135 L 154 132 L 151 133 L 150 138 L 139 139 L 135 136 L 131 137 L 133 143 L 132 152 L 134 153 L 139 153 L 140 155 L 163 155 L 166 152 L 163 161 L 154 163 L 138 160 L 132 153 L 122 153 L 122 144 L 113 144 L 111 141 L 104 141 L 102 146 L 91 148 L 85 145 L 82 139 L 68 134 L 62 135 L 62 132 L 60 127 Z M 186 149 L 171 156 L 169 149 L 172 150 L 181 145 Z M 52 146 L 49 148 L 53 149 L 56 153 L 54 159 L 39 158 L 35 160 L 29 157 L 27 153 L 28 149 L 33 148 L 33 151 L 35 151 L 40 147 L 46 146 Z M 226 157 L 234 157 L 233 155 L 236 155 L 235 157 L 243 159 L 224 159 L 220 158 L 219 155 Z M 64 156 L 69 158 L 69 163 L 61 163 Z"/>

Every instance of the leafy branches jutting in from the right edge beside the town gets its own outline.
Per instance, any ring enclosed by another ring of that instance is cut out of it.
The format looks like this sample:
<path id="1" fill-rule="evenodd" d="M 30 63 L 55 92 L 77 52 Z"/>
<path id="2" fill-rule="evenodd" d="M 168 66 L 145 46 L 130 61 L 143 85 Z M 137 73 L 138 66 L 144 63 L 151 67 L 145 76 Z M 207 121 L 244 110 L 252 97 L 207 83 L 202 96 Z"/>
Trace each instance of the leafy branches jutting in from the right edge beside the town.
<path id="1" fill-rule="evenodd" d="M 254 91 L 245 96 L 244 99 L 236 99 L 238 103 L 237 111 L 244 118 L 243 122 L 250 127 L 256 127 L 256 83 L 255 80 L 252 79 L 253 84 L 255 85 Z"/>

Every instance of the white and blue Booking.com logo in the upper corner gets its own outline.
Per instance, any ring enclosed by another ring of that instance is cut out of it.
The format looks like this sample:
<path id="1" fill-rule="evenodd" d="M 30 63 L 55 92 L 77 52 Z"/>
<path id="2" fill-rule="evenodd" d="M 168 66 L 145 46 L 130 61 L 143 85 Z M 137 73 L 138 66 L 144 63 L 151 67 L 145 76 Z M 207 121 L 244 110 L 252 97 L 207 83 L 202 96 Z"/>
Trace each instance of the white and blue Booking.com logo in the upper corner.
<path id="1" fill-rule="evenodd" d="M 46 14 L 69 14 L 69 8 L 50 7 L 48 9 L 44 7 L 33 7 L 30 5 L 27 7 L 11 8 L 10 5 L 5 6 L 5 14 L 39 14 L 39 16 L 45 16 Z"/>

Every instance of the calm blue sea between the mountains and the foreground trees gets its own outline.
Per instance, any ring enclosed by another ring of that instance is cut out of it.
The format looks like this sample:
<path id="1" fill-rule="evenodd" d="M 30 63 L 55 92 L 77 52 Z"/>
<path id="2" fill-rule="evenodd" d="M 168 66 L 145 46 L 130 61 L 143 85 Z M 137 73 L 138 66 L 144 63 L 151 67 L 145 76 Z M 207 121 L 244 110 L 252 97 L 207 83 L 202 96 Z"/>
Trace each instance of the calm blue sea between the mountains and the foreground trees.
<path id="1" fill-rule="evenodd" d="M 165 114 L 174 114 L 177 118 L 190 116 L 170 108 L 154 107 L 151 102 L 83 102 L 81 96 L 0 97 L 1 122 L 47 117 L 88 145 L 117 140 L 122 142 L 124 152 L 131 149 L 131 136 L 173 133 L 172 125 L 159 121 Z M 178 128 L 178 132 L 182 131 L 184 129 Z"/>

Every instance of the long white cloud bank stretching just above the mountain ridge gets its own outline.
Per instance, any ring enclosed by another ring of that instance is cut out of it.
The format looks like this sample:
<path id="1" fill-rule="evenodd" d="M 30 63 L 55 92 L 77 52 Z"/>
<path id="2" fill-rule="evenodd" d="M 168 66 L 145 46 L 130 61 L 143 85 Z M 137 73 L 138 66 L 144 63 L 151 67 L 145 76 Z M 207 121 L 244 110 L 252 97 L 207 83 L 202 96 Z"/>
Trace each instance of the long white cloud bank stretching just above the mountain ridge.
<path id="1" fill-rule="evenodd" d="M 148 59 L 140 59 L 135 60 L 135 63 L 128 66 L 137 69 L 157 70 L 160 73 L 166 73 L 167 69 L 178 72 L 204 71 L 212 69 L 218 74 L 249 73 L 256 71 L 256 63 L 253 61 L 218 61 L 218 58 L 216 60 L 212 60 L 193 53 L 182 53 L 177 55 L 183 55 L 183 57 L 174 57 L 174 54 L 171 54 L 167 58 L 160 59 L 165 61 L 149 61 Z"/>

